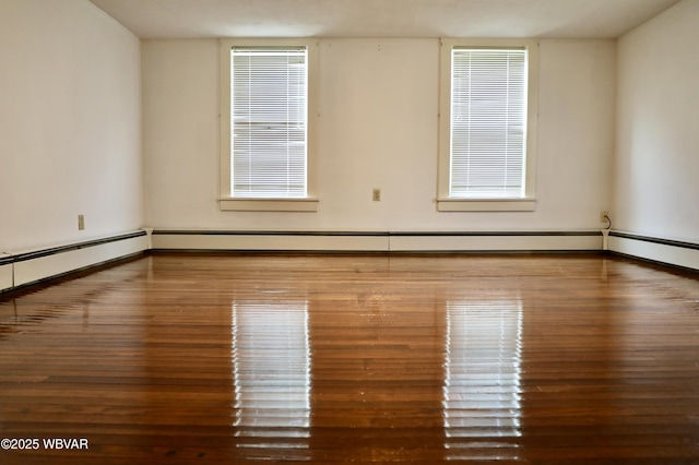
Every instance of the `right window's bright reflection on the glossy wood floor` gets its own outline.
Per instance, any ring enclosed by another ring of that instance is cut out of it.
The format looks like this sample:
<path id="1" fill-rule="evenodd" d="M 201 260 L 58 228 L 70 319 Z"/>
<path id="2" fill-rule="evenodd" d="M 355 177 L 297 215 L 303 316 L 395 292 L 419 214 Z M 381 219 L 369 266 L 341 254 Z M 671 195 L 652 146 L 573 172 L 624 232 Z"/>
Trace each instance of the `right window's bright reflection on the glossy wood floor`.
<path id="1" fill-rule="evenodd" d="M 521 437 L 522 302 L 447 302 L 443 388 L 448 460 L 516 460 Z"/>

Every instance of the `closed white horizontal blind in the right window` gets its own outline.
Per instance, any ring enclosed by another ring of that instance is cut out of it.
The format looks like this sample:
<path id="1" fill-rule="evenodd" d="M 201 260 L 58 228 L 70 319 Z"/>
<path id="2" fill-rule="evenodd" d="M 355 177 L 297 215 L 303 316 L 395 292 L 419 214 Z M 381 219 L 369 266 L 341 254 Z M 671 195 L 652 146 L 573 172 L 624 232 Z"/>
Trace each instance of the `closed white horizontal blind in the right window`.
<path id="1" fill-rule="evenodd" d="M 452 49 L 450 198 L 525 195 L 526 53 Z"/>

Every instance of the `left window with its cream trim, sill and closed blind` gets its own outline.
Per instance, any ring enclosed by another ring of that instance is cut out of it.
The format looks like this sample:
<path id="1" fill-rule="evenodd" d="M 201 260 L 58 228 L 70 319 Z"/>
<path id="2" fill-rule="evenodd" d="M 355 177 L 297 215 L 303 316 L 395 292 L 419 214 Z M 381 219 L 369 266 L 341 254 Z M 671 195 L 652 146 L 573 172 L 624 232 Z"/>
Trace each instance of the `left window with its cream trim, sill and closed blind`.
<path id="1" fill-rule="evenodd" d="M 222 41 L 221 208 L 316 211 L 317 45 Z"/>

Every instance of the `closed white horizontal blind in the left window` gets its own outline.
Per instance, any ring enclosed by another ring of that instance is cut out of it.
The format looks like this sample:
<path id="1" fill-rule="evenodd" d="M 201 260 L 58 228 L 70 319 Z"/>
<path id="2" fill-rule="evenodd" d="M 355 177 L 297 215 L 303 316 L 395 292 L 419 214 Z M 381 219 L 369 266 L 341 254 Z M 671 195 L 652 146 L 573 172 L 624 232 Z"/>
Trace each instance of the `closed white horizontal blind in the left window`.
<path id="1" fill-rule="evenodd" d="M 306 47 L 230 50 L 233 198 L 307 195 Z"/>

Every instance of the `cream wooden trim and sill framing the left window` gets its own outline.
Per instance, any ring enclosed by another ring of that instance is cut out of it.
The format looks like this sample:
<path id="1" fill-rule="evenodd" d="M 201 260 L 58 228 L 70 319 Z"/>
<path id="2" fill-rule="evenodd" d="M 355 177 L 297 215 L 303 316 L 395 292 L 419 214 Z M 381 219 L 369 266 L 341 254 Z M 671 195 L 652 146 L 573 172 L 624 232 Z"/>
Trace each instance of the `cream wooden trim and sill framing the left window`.
<path id="1" fill-rule="evenodd" d="M 220 195 L 222 211 L 316 212 L 317 133 L 318 133 L 318 39 L 316 38 L 227 38 L 220 47 Z M 301 199 L 239 199 L 230 192 L 230 49 L 236 46 L 305 46 L 308 50 L 308 119 L 307 119 L 307 193 Z"/>

